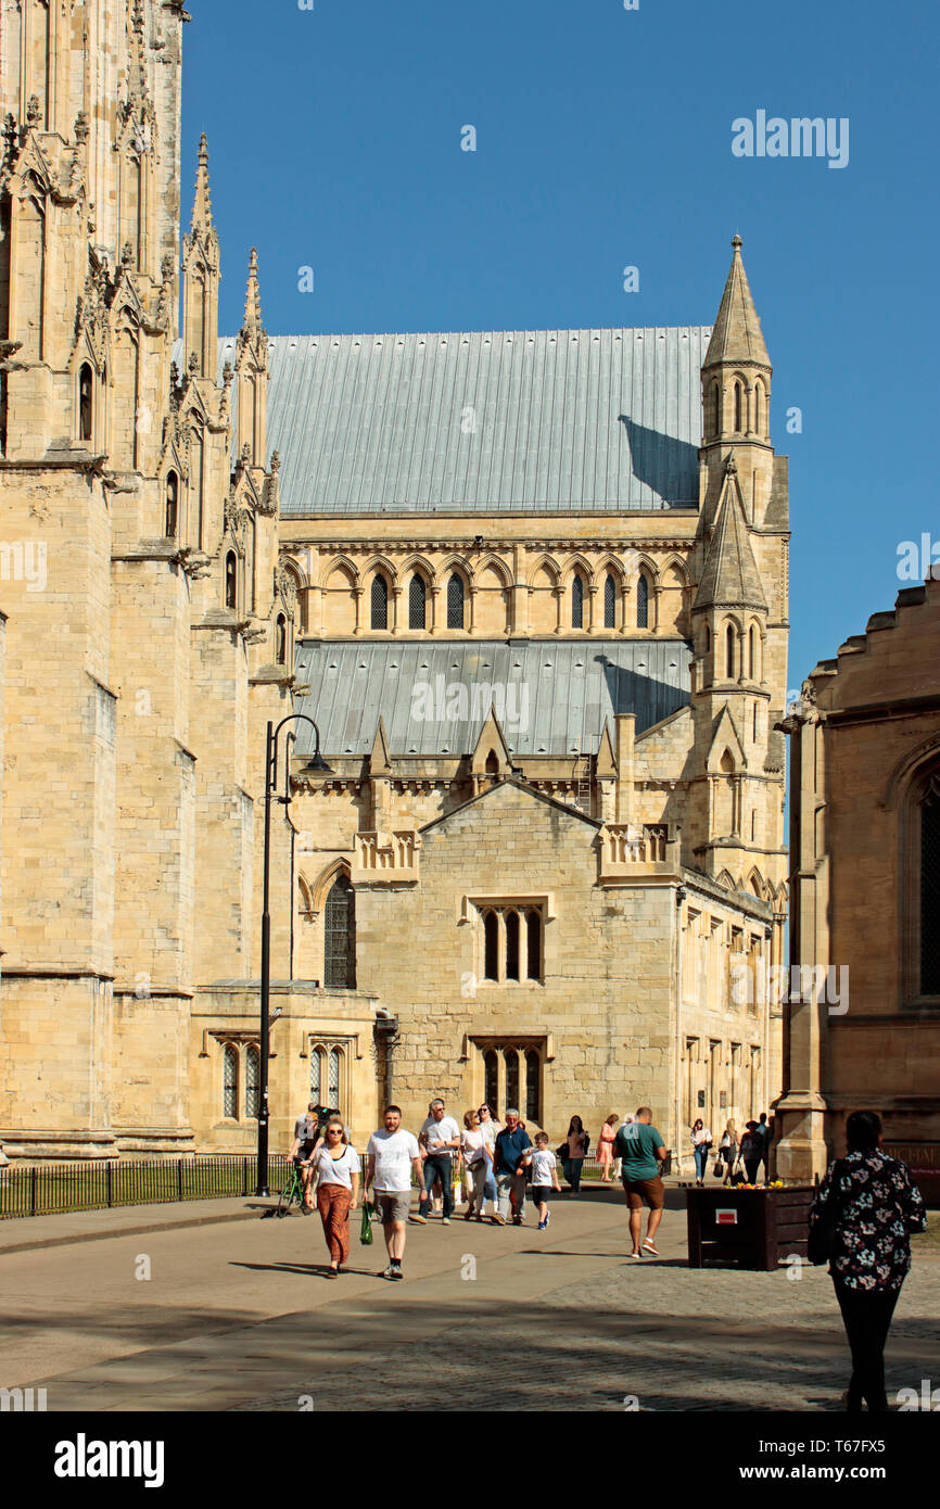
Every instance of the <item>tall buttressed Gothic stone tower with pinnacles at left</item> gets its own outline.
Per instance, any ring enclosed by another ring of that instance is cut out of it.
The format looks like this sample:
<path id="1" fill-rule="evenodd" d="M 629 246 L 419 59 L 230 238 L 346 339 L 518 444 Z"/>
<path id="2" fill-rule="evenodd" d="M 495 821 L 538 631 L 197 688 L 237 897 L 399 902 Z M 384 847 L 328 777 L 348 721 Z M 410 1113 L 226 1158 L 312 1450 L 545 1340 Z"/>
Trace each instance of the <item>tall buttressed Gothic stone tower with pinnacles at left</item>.
<path id="1" fill-rule="evenodd" d="M 205 143 L 172 362 L 186 20 L 181 0 L 0 14 L 11 1156 L 190 1147 L 192 999 L 252 967 L 249 751 L 288 697 L 287 598 L 253 261 L 238 373 L 216 374 Z"/>

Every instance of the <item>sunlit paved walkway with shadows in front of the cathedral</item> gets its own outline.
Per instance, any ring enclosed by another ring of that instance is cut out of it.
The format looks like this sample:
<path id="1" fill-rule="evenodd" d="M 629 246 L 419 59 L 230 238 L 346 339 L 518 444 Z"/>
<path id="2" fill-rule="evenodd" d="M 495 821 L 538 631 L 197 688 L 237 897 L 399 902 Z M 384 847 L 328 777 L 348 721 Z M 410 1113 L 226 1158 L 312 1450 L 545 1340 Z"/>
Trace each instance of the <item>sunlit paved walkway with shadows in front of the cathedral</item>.
<path id="1" fill-rule="evenodd" d="M 837 1408 L 845 1385 L 824 1271 L 688 1269 L 682 1209 L 665 1215 L 661 1260 L 641 1263 L 626 1259 L 619 1191 L 560 1198 L 548 1233 L 409 1227 L 406 1281 L 388 1284 L 380 1233 L 373 1248 L 355 1237 L 353 1271 L 327 1283 L 317 1218 L 228 1204 L 246 1219 L 0 1255 L 0 1385 L 44 1385 L 50 1411 L 327 1412 L 432 1399 L 445 1411 L 815 1411 Z M 938 1314 L 940 1260 L 916 1259 L 890 1391 L 937 1382 Z"/>

